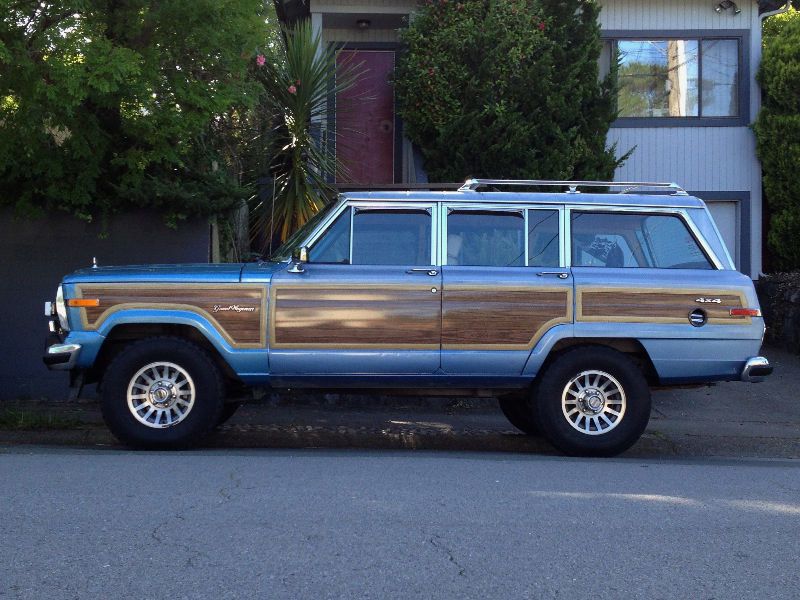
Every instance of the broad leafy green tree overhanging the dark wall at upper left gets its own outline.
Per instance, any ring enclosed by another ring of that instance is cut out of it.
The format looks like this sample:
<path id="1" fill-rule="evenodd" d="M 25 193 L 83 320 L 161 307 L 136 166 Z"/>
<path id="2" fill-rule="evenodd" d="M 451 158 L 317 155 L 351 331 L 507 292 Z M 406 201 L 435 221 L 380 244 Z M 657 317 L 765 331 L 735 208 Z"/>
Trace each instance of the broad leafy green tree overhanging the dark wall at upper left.
<path id="1" fill-rule="evenodd" d="M 260 0 L 7 0 L 0 204 L 173 218 L 246 197 L 219 127 L 255 104 Z"/>

